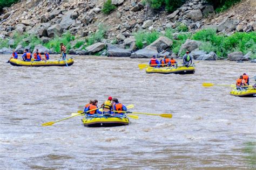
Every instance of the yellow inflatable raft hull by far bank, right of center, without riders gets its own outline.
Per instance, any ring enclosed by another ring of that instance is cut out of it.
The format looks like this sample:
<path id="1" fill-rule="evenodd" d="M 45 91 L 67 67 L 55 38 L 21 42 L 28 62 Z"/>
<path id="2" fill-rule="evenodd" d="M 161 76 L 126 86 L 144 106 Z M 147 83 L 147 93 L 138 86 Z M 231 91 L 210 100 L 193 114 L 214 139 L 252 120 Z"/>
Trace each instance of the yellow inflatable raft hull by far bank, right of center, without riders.
<path id="1" fill-rule="evenodd" d="M 146 73 L 161 73 L 161 74 L 194 74 L 194 66 L 178 66 L 178 67 L 147 67 Z"/>

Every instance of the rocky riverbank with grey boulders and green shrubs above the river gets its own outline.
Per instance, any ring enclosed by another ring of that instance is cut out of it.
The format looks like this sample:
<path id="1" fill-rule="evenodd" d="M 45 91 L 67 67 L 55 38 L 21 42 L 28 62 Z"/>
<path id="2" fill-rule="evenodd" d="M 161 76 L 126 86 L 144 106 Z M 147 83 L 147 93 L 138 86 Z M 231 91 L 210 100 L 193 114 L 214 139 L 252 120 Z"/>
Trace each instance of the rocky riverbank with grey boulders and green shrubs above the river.
<path id="1" fill-rule="evenodd" d="M 256 30 L 253 1 L 242 1 L 233 9 L 217 15 L 213 6 L 203 0 L 189 0 L 173 13 L 153 11 L 142 1 L 119 0 L 112 1 L 117 9 L 104 15 L 103 4 L 104 1 L 30 0 L 5 8 L 0 17 L 0 34 L 5 41 L 0 54 L 10 53 L 10 48 L 19 53 L 25 48 L 57 53 L 59 42 L 64 40 L 58 37 L 70 34 L 71 38 L 64 41 L 69 54 L 131 58 L 171 55 L 178 58 L 188 50 L 199 60 L 256 58 L 256 40 L 252 38 Z M 208 39 L 207 34 L 195 38 L 194 34 L 203 29 L 214 30 L 215 35 L 208 31 L 210 36 L 223 35 L 218 37 L 223 40 L 235 32 L 254 34 L 238 34 L 237 37 L 249 44 L 244 47 L 235 42 L 231 49 L 230 42 L 220 45 L 221 42 L 215 42 L 214 37 Z M 20 36 L 24 34 L 26 36 Z"/>

